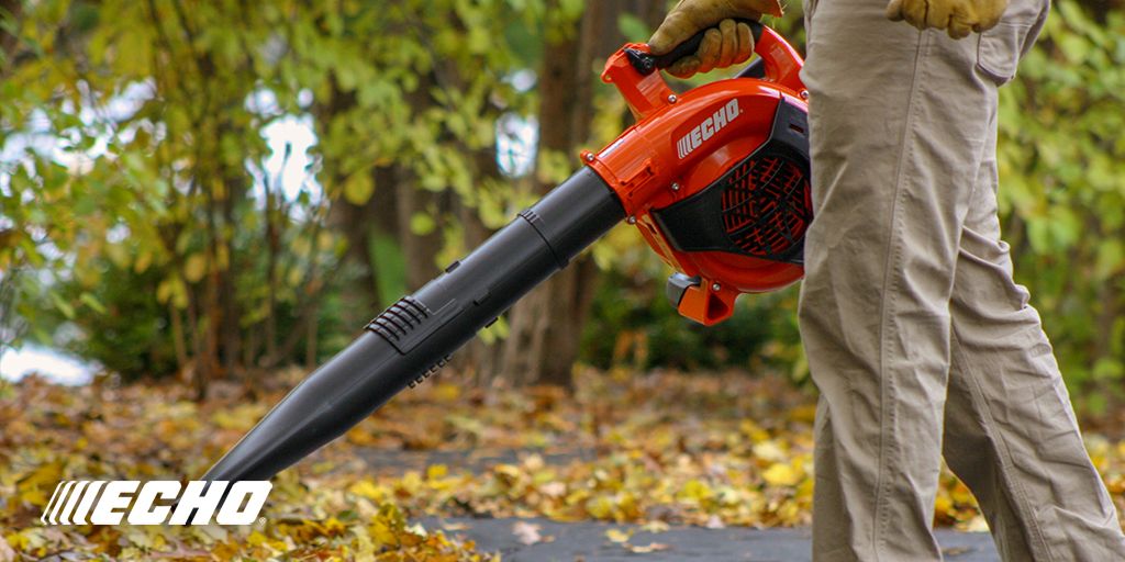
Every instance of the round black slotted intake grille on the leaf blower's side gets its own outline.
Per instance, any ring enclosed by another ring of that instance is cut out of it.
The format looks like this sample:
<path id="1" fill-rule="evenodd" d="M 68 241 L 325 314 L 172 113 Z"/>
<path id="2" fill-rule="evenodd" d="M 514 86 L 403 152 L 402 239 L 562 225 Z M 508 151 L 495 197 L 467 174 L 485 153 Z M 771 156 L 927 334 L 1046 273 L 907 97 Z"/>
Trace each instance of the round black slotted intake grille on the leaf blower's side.
<path id="1" fill-rule="evenodd" d="M 778 155 L 738 165 L 722 188 L 722 224 L 730 242 L 754 257 L 786 261 L 802 250 L 809 211 L 809 178 Z"/>

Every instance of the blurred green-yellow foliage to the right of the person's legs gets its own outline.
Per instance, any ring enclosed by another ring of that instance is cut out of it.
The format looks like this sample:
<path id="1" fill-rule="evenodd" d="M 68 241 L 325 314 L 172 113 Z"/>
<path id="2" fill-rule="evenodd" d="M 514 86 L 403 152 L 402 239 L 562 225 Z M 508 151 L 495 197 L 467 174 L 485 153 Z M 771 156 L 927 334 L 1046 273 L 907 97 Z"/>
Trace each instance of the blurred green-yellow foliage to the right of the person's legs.
<path id="1" fill-rule="evenodd" d="M 1000 202 L 1016 275 L 1092 410 L 1125 378 L 1125 16 L 1056 2 L 1000 96 Z"/>

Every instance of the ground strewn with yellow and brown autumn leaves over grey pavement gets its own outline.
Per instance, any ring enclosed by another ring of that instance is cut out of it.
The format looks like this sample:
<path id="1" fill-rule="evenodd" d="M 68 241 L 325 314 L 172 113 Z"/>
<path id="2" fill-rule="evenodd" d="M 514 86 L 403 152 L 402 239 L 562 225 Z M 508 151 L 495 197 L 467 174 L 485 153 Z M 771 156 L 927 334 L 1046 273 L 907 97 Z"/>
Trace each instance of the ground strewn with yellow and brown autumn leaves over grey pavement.
<path id="1" fill-rule="evenodd" d="M 0 386 L 0 562 L 808 559 L 814 396 L 745 373 L 586 370 L 574 395 L 443 373 L 279 474 L 253 526 L 39 524 L 60 480 L 198 478 L 300 377 L 202 405 L 174 383 Z M 1088 446 L 1123 507 L 1125 442 Z M 936 513 L 986 529 L 947 472 Z M 996 560 L 987 534 L 943 533 L 950 560 Z"/>

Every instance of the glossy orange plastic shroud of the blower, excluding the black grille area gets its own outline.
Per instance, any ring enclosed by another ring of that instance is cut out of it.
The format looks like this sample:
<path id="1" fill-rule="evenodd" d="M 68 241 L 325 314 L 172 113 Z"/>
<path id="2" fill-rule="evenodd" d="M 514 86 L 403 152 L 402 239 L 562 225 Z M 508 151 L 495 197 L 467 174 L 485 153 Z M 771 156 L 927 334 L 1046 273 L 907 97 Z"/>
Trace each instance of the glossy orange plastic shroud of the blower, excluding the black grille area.
<path id="1" fill-rule="evenodd" d="M 721 80 L 683 94 L 660 72 L 642 74 L 630 62 L 627 51 L 648 53 L 647 45 L 622 47 L 606 62 L 602 80 L 616 87 L 638 123 L 601 152 L 582 153 L 649 246 L 673 269 L 700 278 L 680 299 L 678 311 L 704 325 L 730 317 L 739 294 L 776 290 L 803 275 L 794 263 L 677 251 L 651 215 L 711 185 L 762 146 L 783 99 L 808 111 L 800 54 L 774 30 L 762 29 L 755 52 L 765 63 L 763 79 Z"/>

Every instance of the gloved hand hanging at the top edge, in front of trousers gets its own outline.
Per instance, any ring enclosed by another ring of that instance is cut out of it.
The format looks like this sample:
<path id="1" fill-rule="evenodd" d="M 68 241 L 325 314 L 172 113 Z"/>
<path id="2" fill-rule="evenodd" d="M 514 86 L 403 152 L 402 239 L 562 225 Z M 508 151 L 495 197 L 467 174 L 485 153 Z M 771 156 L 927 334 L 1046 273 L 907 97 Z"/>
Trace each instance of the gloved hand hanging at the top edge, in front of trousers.
<path id="1" fill-rule="evenodd" d="M 950 37 L 960 39 L 991 29 L 1007 7 L 1008 0 L 891 0 L 886 17 L 904 19 L 918 29 L 945 29 Z"/>

